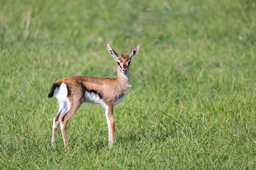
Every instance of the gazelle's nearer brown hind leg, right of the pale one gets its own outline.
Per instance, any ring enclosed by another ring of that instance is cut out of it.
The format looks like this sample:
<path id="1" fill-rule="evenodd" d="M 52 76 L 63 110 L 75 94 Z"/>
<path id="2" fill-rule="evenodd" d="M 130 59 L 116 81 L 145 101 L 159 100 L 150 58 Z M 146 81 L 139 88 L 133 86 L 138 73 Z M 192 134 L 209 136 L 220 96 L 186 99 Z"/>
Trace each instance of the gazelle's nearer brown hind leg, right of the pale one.
<path id="1" fill-rule="evenodd" d="M 77 99 L 71 99 L 70 100 L 70 109 L 60 117 L 60 126 L 61 126 L 61 132 L 62 137 L 64 141 L 65 148 L 68 146 L 68 138 L 67 138 L 67 123 L 68 120 L 76 113 L 76 111 L 79 109 L 83 101 Z"/>

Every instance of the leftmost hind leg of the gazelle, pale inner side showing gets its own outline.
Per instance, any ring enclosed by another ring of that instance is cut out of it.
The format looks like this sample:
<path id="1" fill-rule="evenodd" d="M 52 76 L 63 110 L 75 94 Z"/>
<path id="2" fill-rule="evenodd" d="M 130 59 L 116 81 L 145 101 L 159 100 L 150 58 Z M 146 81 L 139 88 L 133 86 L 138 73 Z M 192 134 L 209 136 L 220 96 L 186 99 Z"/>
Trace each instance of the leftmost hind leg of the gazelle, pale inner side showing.
<path id="1" fill-rule="evenodd" d="M 61 115 L 65 114 L 68 110 L 68 104 L 65 102 L 59 102 L 59 111 L 56 116 L 53 118 L 53 125 L 52 125 L 52 147 L 55 147 L 55 139 L 56 139 L 56 131 L 60 124 L 60 117 Z"/>

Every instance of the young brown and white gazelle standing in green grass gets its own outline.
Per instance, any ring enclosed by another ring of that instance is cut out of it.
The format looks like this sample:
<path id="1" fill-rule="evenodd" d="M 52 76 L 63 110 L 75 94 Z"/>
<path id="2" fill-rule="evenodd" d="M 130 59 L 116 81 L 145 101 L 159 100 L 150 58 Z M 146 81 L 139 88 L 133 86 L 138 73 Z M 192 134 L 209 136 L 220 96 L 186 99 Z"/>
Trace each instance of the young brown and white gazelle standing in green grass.
<path id="1" fill-rule="evenodd" d="M 76 113 L 82 103 L 100 104 L 105 110 L 108 124 L 109 146 L 114 143 L 115 118 L 113 106 L 119 104 L 131 87 L 129 83 L 129 66 L 132 57 L 138 53 L 140 46 L 136 46 L 129 55 L 118 55 L 108 44 L 108 51 L 116 60 L 116 78 L 94 78 L 89 76 L 69 76 L 54 81 L 48 97 L 51 98 L 55 92 L 58 99 L 59 110 L 53 118 L 52 147 L 55 147 L 55 138 L 58 125 L 65 148 L 68 146 L 67 123 Z"/>

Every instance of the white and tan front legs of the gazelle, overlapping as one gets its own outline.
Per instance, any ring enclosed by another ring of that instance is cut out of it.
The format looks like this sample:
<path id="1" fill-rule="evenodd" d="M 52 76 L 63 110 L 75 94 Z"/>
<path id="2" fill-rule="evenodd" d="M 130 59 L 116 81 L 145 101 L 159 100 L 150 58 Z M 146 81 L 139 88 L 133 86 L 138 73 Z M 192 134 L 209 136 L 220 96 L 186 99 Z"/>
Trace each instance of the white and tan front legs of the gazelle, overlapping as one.
<path id="1" fill-rule="evenodd" d="M 115 142 L 114 134 L 115 134 L 115 117 L 113 114 L 113 104 L 108 104 L 104 107 L 106 120 L 108 124 L 108 143 L 109 148 L 111 148 L 112 144 Z"/>

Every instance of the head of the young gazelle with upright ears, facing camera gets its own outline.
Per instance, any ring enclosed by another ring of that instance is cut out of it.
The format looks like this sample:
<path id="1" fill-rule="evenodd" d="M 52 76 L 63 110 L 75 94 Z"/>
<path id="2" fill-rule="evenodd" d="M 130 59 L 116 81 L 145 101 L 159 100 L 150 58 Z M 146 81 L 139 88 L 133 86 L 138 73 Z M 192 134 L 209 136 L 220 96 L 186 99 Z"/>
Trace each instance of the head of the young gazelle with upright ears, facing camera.
<path id="1" fill-rule="evenodd" d="M 122 73 L 128 73 L 129 66 L 131 64 L 131 59 L 134 55 L 136 55 L 136 53 L 138 53 L 139 49 L 140 49 L 140 45 L 137 45 L 129 55 L 123 55 L 123 54 L 118 55 L 115 52 L 115 50 L 113 50 L 113 48 L 111 48 L 111 46 L 108 44 L 108 51 L 116 60 L 116 65 L 118 66 L 118 69 Z"/>

